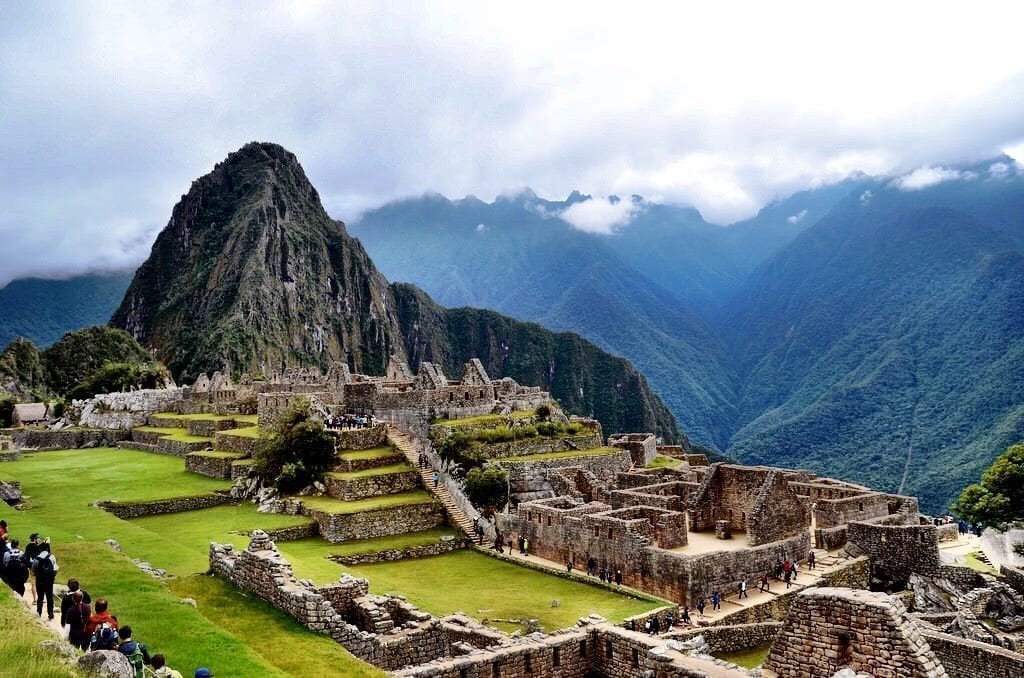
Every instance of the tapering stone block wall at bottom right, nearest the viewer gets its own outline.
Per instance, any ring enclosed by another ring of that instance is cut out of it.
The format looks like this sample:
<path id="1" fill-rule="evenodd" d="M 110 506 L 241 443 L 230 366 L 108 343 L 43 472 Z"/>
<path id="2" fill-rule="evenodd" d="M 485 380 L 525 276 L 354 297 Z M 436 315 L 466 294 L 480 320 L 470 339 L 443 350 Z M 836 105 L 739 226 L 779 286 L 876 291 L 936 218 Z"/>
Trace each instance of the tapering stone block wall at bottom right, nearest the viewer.
<path id="1" fill-rule="evenodd" d="M 879 678 L 947 675 L 899 600 L 853 589 L 801 591 L 764 668 L 833 676 L 844 667 Z"/>

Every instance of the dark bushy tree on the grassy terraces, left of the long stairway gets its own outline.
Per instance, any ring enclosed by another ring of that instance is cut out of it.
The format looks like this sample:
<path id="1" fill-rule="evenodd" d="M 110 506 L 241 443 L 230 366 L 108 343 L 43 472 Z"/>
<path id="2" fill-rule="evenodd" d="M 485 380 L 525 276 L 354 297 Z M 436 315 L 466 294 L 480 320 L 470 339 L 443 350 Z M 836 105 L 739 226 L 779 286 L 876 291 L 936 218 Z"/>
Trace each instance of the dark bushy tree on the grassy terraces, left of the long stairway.
<path id="1" fill-rule="evenodd" d="M 292 400 L 281 423 L 253 455 L 253 468 L 264 483 L 295 492 L 324 477 L 336 463 L 334 438 L 324 422 L 309 414 L 309 401 Z"/>

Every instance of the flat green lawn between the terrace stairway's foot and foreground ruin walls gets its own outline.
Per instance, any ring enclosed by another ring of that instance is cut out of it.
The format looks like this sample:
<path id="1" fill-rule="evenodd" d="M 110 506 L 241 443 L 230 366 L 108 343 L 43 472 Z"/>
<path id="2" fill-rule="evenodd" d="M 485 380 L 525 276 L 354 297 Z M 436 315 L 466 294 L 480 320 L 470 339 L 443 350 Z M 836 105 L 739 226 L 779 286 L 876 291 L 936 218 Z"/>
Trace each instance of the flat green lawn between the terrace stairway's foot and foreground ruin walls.
<path id="1" fill-rule="evenodd" d="M 279 545 L 299 578 L 332 582 L 342 573 L 370 580 L 374 593 L 399 594 L 434 615 L 464 611 L 480 620 L 537 619 L 548 631 L 575 624 L 591 612 L 621 622 L 662 606 L 596 586 L 519 567 L 472 550 L 418 560 L 340 565 L 319 557 L 305 541 Z M 559 605 L 551 606 L 557 599 Z M 515 624 L 494 623 L 506 631 Z"/>

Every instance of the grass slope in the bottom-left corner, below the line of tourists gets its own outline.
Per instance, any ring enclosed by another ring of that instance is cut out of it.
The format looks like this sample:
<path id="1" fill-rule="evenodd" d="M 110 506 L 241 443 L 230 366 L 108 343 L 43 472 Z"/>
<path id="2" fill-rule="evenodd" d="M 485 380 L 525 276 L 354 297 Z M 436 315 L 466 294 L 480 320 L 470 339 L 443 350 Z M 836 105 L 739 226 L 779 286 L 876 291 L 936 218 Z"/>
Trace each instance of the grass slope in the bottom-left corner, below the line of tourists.
<path id="1" fill-rule="evenodd" d="M 52 653 L 39 649 L 39 642 L 53 638 L 37 623 L 35 612 L 19 603 L 0 584 L 0 675 L 25 678 L 65 678 L 83 675 Z"/>

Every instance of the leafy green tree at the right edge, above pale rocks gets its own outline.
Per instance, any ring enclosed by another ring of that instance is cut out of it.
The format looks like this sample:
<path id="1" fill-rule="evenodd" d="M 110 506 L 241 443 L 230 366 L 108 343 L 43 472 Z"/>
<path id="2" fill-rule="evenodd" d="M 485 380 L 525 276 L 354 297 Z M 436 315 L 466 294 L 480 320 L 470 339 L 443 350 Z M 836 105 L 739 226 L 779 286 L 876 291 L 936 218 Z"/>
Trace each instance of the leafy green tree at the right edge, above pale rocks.
<path id="1" fill-rule="evenodd" d="M 1024 443 L 999 455 L 982 473 L 980 482 L 964 489 L 952 510 L 986 527 L 1024 518 Z"/>

